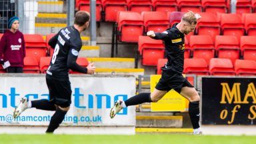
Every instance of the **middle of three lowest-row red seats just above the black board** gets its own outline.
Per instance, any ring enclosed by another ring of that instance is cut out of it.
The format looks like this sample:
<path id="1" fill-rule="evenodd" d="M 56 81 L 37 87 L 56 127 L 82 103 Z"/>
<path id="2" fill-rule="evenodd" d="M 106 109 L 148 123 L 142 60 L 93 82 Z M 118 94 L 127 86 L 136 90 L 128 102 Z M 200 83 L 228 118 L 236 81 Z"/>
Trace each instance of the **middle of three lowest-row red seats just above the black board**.
<path id="1" fill-rule="evenodd" d="M 233 64 L 230 59 L 213 58 L 209 63 L 211 75 L 235 75 Z"/>

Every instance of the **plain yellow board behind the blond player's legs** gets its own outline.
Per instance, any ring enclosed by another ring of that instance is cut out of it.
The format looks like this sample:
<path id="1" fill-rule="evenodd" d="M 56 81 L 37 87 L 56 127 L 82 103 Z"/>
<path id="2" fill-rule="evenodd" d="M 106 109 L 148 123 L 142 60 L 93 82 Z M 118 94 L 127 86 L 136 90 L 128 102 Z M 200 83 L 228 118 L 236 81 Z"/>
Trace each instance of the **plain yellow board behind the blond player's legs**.
<path id="1" fill-rule="evenodd" d="M 155 89 L 161 75 L 151 75 L 150 91 Z M 187 111 L 188 100 L 173 89 L 163 96 L 157 103 L 151 103 L 151 111 Z"/>

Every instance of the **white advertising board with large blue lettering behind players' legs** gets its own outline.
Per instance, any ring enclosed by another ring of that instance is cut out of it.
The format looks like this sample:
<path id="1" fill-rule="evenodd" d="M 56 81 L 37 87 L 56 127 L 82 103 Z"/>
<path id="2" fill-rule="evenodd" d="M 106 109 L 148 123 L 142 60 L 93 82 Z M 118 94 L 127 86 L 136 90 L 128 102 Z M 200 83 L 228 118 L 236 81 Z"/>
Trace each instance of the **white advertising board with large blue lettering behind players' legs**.
<path id="1" fill-rule="evenodd" d="M 4 83 L 0 85 L 0 125 L 3 127 L 0 133 L 33 133 L 49 124 L 53 111 L 27 109 L 17 119 L 12 115 L 21 97 L 49 99 L 45 75 L 1 74 L 0 81 Z M 125 100 L 135 95 L 135 77 L 71 75 L 70 81 L 73 91 L 71 108 L 59 133 L 135 133 L 135 107 L 123 109 L 115 119 L 109 117 L 111 106 L 117 99 Z"/>

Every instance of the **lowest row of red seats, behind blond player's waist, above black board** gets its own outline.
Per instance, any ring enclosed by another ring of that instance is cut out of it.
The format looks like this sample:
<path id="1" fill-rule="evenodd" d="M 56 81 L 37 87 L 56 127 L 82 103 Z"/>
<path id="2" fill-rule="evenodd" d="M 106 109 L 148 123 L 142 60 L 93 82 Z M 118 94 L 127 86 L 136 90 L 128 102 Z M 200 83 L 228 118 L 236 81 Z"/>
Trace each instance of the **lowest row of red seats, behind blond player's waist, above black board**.
<path id="1" fill-rule="evenodd" d="M 161 67 L 166 62 L 167 59 L 159 59 L 157 74 L 161 74 Z M 237 59 L 233 65 L 230 59 L 213 58 L 208 65 L 204 59 L 185 59 L 183 73 L 196 75 L 256 75 L 256 61 Z"/>

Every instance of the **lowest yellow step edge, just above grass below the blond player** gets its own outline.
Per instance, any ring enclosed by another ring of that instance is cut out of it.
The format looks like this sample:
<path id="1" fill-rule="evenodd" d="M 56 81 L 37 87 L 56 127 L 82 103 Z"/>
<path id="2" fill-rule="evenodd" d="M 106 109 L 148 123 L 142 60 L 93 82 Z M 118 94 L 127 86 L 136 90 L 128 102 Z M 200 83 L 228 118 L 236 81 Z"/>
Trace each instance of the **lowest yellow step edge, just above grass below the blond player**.
<path id="1" fill-rule="evenodd" d="M 193 133 L 193 129 L 187 128 L 145 128 L 136 127 L 136 133 Z"/>

